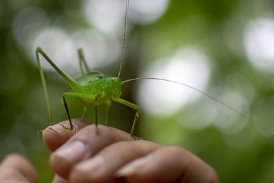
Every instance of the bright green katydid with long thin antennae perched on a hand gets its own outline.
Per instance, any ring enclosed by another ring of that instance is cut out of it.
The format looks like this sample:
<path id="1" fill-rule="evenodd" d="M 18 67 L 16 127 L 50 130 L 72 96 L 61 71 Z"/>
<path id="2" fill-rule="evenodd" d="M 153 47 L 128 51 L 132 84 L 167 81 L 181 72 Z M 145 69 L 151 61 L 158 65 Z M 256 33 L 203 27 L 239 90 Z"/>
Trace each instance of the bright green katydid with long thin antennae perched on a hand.
<path id="1" fill-rule="evenodd" d="M 125 36 L 126 36 L 126 29 L 127 29 L 127 14 L 128 14 L 128 7 L 129 7 L 129 0 L 126 1 L 126 10 L 125 10 L 125 27 L 124 27 L 124 34 L 123 34 L 123 49 L 122 49 L 122 56 L 121 56 L 121 63 L 119 68 L 119 73 L 117 77 L 108 77 L 100 72 L 90 72 L 88 69 L 88 65 L 86 63 L 86 60 L 84 58 L 84 54 L 82 49 L 78 49 L 78 56 L 79 56 L 79 69 L 81 71 L 81 76 L 77 77 L 76 80 L 74 80 L 71 76 L 67 75 L 62 69 L 60 69 L 54 62 L 47 56 L 45 51 L 41 47 L 37 47 L 36 49 L 36 59 L 38 61 L 38 67 L 40 71 L 40 77 L 42 80 L 42 86 L 44 88 L 45 93 L 45 99 L 47 102 L 47 110 L 49 112 L 49 117 L 51 120 L 51 125 L 54 124 L 53 115 L 51 112 L 51 107 L 49 105 L 49 97 L 47 92 L 47 85 L 45 82 L 45 75 L 43 73 L 42 64 L 40 60 L 40 55 L 42 55 L 51 66 L 57 71 L 64 80 L 71 86 L 72 92 L 70 93 L 63 93 L 62 99 L 64 101 L 64 107 L 66 109 L 66 113 L 69 117 L 69 123 L 70 127 L 63 126 L 66 130 L 73 130 L 73 123 L 71 121 L 71 115 L 69 112 L 69 106 L 76 106 L 76 107 L 83 107 L 84 108 L 84 115 L 83 117 L 86 117 L 86 107 L 90 105 L 95 105 L 95 127 L 98 130 L 98 116 L 97 116 L 97 106 L 101 105 L 102 103 L 106 103 L 107 105 L 107 117 L 106 117 L 106 124 L 108 125 L 109 119 L 110 119 L 110 106 L 112 101 L 116 101 L 118 103 L 121 103 L 129 108 L 133 108 L 136 110 L 136 114 L 134 117 L 132 129 L 130 131 L 130 134 L 134 136 L 134 130 L 136 127 L 136 123 L 138 121 L 138 117 L 140 115 L 140 107 L 136 104 L 126 101 L 124 99 L 121 99 L 121 86 L 125 84 L 126 82 L 131 82 L 135 80 L 162 80 L 165 82 L 173 82 L 171 80 L 165 80 L 161 78 L 155 78 L 155 77 L 139 77 L 134 78 L 130 80 L 122 81 L 120 78 L 121 75 L 121 69 L 123 66 L 123 57 L 125 55 Z M 215 99 L 214 97 L 208 95 L 207 93 L 204 93 L 203 91 L 194 88 L 192 86 L 182 84 L 179 82 L 173 82 L 175 84 L 179 84 L 182 86 L 186 86 L 188 88 L 191 88 L 193 90 L 198 91 L 199 93 L 206 95 L 206 97 L 209 97 L 210 99 L 213 99 L 214 101 L 221 103 L 223 106 L 229 108 L 230 110 L 233 110 L 237 114 L 239 114 L 243 119 L 247 118 L 243 116 L 240 112 L 237 110 L 234 110 L 234 108 L 227 106 L 227 104 L 223 103 L 222 101 L 219 101 L 218 99 Z M 267 130 L 266 130 L 267 131 Z"/>

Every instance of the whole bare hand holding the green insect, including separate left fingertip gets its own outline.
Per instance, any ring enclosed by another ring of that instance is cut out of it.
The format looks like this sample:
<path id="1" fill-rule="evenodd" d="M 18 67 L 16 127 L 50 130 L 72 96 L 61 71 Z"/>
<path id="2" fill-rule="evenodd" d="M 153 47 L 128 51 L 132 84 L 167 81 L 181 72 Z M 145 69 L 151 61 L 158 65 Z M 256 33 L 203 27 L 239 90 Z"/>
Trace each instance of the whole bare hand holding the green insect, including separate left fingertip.
<path id="1" fill-rule="evenodd" d="M 69 121 L 62 124 L 69 127 Z M 59 124 L 43 133 L 53 151 L 53 183 L 68 182 L 219 182 L 208 164 L 182 147 L 151 141 L 134 141 L 130 134 L 113 127 L 95 126 L 73 119 L 73 131 Z M 8 173 L 7 173 L 8 172 Z M 0 165 L 0 182 L 36 182 L 32 164 L 11 154 Z"/>

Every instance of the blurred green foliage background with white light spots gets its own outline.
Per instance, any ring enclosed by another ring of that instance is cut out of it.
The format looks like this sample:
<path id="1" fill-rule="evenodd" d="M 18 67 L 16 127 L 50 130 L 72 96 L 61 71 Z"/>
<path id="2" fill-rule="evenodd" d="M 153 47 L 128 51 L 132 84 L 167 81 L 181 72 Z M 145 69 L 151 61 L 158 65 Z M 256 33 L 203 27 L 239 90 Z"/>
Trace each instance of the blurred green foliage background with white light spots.
<path id="1" fill-rule="evenodd" d="M 221 182 L 274 182 L 273 9 L 271 0 L 130 1 L 122 80 L 184 82 L 245 116 L 183 86 L 130 82 L 121 97 L 140 105 L 137 136 L 192 151 Z M 0 1 L 1 159 L 21 153 L 39 182 L 51 182 L 50 151 L 36 134 L 49 117 L 34 50 L 42 46 L 77 77 L 83 47 L 92 70 L 116 76 L 124 14 L 124 0 Z M 45 73 L 55 121 L 63 121 L 60 99 L 70 88 L 48 64 Z M 81 108 L 70 109 L 81 116 Z M 129 132 L 134 112 L 113 103 L 110 125 Z M 104 105 L 99 114 L 104 121 Z"/>

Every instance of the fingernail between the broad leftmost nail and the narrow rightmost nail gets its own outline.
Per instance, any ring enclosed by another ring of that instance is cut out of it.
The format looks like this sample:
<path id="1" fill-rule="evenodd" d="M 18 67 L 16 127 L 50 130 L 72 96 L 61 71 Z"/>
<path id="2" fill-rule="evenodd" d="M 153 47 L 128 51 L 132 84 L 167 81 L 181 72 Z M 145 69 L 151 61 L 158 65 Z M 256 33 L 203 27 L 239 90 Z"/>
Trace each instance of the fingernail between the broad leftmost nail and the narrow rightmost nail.
<path id="1" fill-rule="evenodd" d="M 99 171 L 101 171 L 101 167 L 105 163 L 105 158 L 103 156 L 98 155 L 90 160 L 86 160 L 85 162 L 81 162 L 77 165 L 78 171 L 89 172 L 92 177 L 99 175 Z"/>

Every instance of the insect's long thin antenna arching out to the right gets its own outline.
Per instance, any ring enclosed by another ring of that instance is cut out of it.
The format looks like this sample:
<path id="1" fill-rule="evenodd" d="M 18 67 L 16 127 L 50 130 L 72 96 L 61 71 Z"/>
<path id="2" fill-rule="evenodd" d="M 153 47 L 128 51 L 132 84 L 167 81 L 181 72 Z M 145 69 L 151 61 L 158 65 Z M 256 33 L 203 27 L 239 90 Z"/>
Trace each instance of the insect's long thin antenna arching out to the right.
<path id="1" fill-rule="evenodd" d="M 247 117 L 245 117 L 243 114 L 241 114 L 240 112 L 238 112 L 237 110 L 235 110 L 234 108 L 228 106 L 227 104 L 223 103 L 223 101 L 220 101 L 219 99 L 215 99 L 214 97 L 212 97 L 211 95 L 208 95 L 208 93 L 205 93 L 203 92 L 202 90 L 199 90 L 193 86 L 190 86 L 188 84 L 184 84 L 184 83 L 180 83 L 180 82 L 174 82 L 174 81 L 171 81 L 171 80 L 166 80 L 166 79 L 162 79 L 162 78 L 157 78 L 157 77 L 137 77 L 137 78 L 133 78 L 133 79 L 129 79 L 129 80 L 125 80 L 123 83 L 126 83 L 126 82 L 132 82 L 132 81 L 136 81 L 136 80 L 161 80 L 161 81 L 165 81 L 165 82 L 172 82 L 172 83 L 175 83 L 175 84 L 179 84 L 179 85 L 182 85 L 182 86 L 186 86 L 192 90 L 196 90 L 197 92 L 205 95 L 206 97 L 218 102 L 218 103 L 221 103 L 223 106 L 229 108 L 230 110 L 236 112 L 236 114 L 240 115 L 240 117 L 242 117 L 243 119 L 249 121 L 249 119 L 247 119 Z M 251 119 L 251 122 L 253 122 L 255 125 L 258 125 L 260 126 L 262 129 L 264 129 L 266 132 L 268 132 L 269 134 L 273 135 L 272 132 L 270 132 L 269 130 L 266 129 L 266 127 L 260 125 L 259 123 L 255 123 L 255 121 L 253 121 Z"/>

